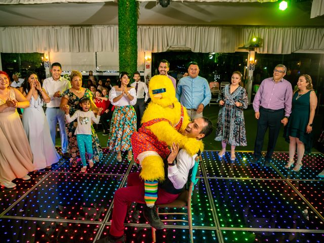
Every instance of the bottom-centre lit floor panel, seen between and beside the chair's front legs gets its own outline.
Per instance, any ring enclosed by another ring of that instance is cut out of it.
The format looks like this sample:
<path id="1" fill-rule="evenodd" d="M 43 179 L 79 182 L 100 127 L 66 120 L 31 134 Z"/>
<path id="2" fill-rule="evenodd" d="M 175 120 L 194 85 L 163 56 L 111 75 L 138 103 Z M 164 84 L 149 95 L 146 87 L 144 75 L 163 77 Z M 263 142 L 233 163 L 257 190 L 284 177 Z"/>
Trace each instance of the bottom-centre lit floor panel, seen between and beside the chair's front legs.
<path id="1" fill-rule="evenodd" d="M 105 226 L 100 238 L 104 238 L 109 232 L 109 225 Z M 218 243 L 216 230 L 193 229 L 193 241 L 197 243 L 213 242 Z M 188 243 L 189 230 L 179 228 L 164 228 L 155 231 L 156 242 L 158 243 Z M 145 225 L 126 226 L 126 242 L 150 243 L 152 242 L 151 227 Z"/>

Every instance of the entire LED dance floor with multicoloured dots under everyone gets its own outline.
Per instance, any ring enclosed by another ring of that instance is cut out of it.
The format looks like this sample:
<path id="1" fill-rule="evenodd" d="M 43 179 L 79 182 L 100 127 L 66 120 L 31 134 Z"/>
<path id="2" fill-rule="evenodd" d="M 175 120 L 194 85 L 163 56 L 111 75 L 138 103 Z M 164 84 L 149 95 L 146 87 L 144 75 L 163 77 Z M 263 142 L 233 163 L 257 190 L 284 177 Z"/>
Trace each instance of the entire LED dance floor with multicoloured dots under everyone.
<path id="1" fill-rule="evenodd" d="M 80 164 L 71 168 L 61 159 L 51 171 L 29 173 L 29 181 L 16 179 L 14 189 L 1 188 L 0 242 L 95 242 L 104 237 L 114 191 L 138 171 L 126 156 L 118 163 L 104 153 L 85 174 L 79 173 Z M 203 153 L 192 195 L 194 242 L 324 242 L 324 183 L 317 177 L 324 155 L 305 156 L 297 173 L 284 168 L 287 153 L 275 153 L 270 167 L 250 164 L 252 152 L 236 152 L 235 161 L 229 156 Z M 125 221 L 126 242 L 152 242 L 142 208 L 137 212 L 138 219 Z M 167 223 L 156 230 L 156 242 L 189 242 L 187 223 Z"/>

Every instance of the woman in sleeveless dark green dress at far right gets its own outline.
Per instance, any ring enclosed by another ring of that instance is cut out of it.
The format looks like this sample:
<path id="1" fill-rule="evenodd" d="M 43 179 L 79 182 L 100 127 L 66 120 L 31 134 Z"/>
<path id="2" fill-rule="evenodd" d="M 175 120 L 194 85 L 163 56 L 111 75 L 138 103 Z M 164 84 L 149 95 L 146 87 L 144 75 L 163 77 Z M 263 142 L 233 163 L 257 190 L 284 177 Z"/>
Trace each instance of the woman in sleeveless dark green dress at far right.
<path id="1" fill-rule="evenodd" d="M 317 97 L 313 90 L 312 79 L 303 74 L 297 82 L 298 90 L 293 95 L 293 108 L 289 122 L 285 128 L 285 138 L 289 142 L 289 161 L 285 166 L 291 168 L 295 161 L 297 146 L 297 163 L 293 171 L 298 172 L 302 167 L 304 152 L 310 152 L 312 147 L 312 126 L 317 106 Z"/>

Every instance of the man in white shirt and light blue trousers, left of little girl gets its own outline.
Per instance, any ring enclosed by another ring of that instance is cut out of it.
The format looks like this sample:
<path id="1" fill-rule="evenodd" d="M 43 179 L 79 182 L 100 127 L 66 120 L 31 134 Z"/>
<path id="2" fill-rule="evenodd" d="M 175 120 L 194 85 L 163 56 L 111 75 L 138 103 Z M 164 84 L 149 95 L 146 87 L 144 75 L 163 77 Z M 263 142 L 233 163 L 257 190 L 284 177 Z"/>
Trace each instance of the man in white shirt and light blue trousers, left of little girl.
<path id="1" fill-rule="evenodd" d="M 67 152 L 65 116 L 64 111 L 60 109 L 60 103 L 63 92 L 71 88 L 71 83 L 69 80 L 61 77 L 62 66 L 60 63 L 55 62 L 52 64 L 51 73 L 52 77 L 46 78 L 43 82 L 43 88 L 51 98 L 51 101 L 46 104 L 46 117 L 49 122 L 53 144 L 55 144 L 56 125 L 59 123 L 62 153 L 65 158 L 69 158 Z"/>

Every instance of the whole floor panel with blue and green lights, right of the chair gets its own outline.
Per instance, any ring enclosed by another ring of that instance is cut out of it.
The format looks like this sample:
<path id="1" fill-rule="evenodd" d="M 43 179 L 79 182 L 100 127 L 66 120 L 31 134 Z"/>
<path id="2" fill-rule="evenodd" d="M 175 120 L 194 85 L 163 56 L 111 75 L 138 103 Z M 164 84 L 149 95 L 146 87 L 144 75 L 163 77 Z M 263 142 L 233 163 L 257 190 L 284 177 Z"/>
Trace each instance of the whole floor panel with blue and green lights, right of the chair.
<path id="1" fill-rule="evenodd" d="M 324 229 L 285 181 L 209 179 L 209 183 L 221 227 Z"/>

